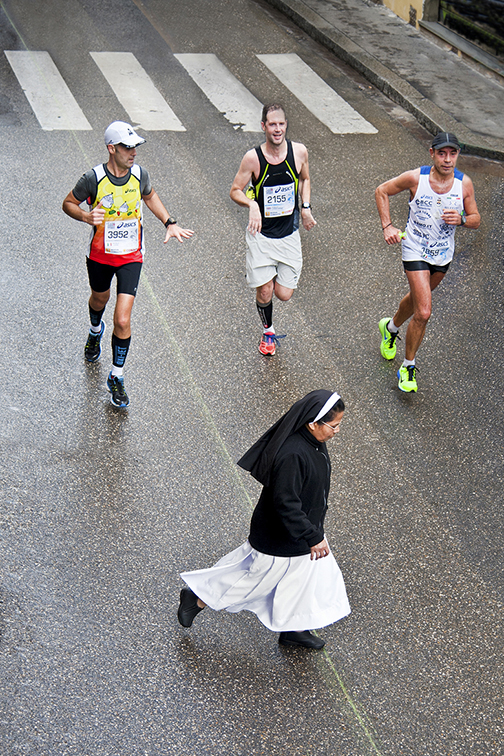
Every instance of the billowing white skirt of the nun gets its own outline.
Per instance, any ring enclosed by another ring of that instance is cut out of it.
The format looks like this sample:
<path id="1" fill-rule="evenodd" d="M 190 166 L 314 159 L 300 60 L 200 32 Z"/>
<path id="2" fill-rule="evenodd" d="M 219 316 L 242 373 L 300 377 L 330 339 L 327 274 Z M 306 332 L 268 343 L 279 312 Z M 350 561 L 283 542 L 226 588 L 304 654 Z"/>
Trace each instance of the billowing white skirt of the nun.
<path id="1" fill-rule="evenodd" d="M 313 630 L 350 614 L 332 553 L 317 560 L 270 556 L 245 541 L 213 567 L 181 577 L 211 609 L 246 609 L 274 632 Z"/>

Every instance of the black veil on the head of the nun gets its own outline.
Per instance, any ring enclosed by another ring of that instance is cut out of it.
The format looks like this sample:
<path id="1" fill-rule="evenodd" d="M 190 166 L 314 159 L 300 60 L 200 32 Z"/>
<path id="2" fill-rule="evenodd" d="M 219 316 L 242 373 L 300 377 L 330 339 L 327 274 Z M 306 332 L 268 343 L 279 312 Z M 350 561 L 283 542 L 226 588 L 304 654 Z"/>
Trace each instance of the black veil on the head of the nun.
<path id="1" fill-rule="evenodd" d="M 324 404 L 332 396 L 332 391 L 318 389 L 311 391 L 303 399 L 292 405 L 290 410 L 280 420 L 271 426 L 266 433 L 256 441 L 243 457 L 238 460 L 238 465 L 248 470 L 250 474 L 262 483 L 263 486 L 270 484 L 271 470 L 278 450 L 285 440 L 296 433 L 306 423 L 311 423 L 317 417 Z M 337 399 L 335 400 L 336 403 Z M 329 411 L 328 408 L 327 411 Z"/>

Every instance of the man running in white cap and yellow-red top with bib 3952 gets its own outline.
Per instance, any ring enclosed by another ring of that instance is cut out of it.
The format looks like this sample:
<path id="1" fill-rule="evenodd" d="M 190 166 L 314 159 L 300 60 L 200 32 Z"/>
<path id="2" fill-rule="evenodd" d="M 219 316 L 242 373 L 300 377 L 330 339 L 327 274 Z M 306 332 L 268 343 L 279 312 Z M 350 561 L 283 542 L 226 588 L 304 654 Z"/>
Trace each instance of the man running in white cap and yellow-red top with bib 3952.
<path id="1" fill-rule="evenodd" d="M 107 389 L 112 404 L 120 408 L 129 405 L 123 372 L 131 342 L 131 310 L 144 258 L 143 202 L 166 226 L 165 244 L 172 237 L 181 242 L 193 234 L 170 217 L 152 188 L 149 174 L 135 164 L 136 148 L 144 142 L 129 123 L 111 123 L 105 130 L 108 161 L 87 171 L 63 201 L 67 215 L 92 227 L 86 260 L 91 287 L 91 326 L 84 348 L 88 362 L 96 362 L 101 355 L 105 332 L 102 317 L 116 276 L 112 370 Z M 81 207 L 83 202 L 87 202 L 86 209 Z"/>

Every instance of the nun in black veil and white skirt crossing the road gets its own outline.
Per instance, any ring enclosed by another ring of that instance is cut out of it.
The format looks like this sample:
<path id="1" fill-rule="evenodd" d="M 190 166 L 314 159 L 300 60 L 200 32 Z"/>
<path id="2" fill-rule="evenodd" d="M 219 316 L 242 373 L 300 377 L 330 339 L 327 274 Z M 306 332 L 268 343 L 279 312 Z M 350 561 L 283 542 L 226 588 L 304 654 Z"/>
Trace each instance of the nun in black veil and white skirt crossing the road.
<path id="1" fill-rule="evenodd" d="M 331 463 L 326 441 L 345 405 L 318 390 L 296 402 L 238 461 L 263 486 L 247 541 L 213 567 L 183 572 L 178 620 L 205 606 L 254 612 L 283 646 L 321 649 L 310 630 L 350 614 L 341 571 L 324 533 Z"/>

